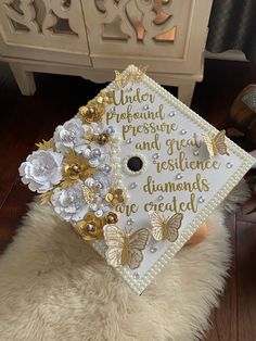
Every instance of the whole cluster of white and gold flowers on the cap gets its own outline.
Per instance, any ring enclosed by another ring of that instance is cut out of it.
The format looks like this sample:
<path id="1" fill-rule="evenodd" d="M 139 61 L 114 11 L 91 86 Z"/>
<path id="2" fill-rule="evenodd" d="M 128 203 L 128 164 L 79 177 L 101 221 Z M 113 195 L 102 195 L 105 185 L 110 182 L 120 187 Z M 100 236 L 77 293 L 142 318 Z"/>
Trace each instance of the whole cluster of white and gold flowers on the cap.
<path id="1" fill-rule="evenodd" d="M 57 126 L 51 140 L 36 143 L 38 150 L 20 166 L 22 181 L 86 242 L 104 238 L 104 225 L 118 222 L 113 207 L 126 200 L 113 159 L 119 138 L 102 123 L 112 103 L 113 91 L 101 90 L 74 118 Z"/>

